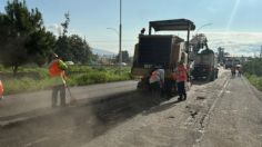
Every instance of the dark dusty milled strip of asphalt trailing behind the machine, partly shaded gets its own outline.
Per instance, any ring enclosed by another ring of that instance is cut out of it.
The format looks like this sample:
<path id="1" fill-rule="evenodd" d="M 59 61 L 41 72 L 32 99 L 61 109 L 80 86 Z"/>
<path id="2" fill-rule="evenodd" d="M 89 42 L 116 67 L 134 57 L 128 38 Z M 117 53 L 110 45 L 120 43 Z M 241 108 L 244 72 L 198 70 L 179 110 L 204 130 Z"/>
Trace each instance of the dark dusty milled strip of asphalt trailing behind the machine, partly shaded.
<path id="1" fill-rule="evenodd" d="M 34 143 L 32 146 L 81 146 L 138 114 L 150 111 L 152 108 L 159 107 L 158 110 L 161 110 L 175 106 L 169 104 L 160 107 L 163 101 L 167 99 L 137 91 L 82 100 L 74 107 L 52 109 L 46 115 L 3 125 L 0 127 L 2 134 L 0 145 L 22 146 L 49 136 L 51 140 Z M 19 136 L 23 136 L 24 139 L 16 139 L 21 138 Z M 71 139 L 64 139 L 64 137 Z"/>

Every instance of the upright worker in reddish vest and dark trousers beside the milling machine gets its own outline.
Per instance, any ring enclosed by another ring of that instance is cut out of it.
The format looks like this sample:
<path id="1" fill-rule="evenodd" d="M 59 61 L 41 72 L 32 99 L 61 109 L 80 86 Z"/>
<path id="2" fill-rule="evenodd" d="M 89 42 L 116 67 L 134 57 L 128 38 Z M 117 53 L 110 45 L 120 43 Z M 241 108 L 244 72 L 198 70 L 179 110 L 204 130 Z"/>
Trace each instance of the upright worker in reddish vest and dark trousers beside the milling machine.
<path id="1" fill-rule="evenodd" d="M 188 74 L 183 62 L 179 62 L 178 69 L 175 71 L 175 79 L 178 86 L 179 100 L 185 100 L 187 99 L 185 82 L 188 81 Z"/>

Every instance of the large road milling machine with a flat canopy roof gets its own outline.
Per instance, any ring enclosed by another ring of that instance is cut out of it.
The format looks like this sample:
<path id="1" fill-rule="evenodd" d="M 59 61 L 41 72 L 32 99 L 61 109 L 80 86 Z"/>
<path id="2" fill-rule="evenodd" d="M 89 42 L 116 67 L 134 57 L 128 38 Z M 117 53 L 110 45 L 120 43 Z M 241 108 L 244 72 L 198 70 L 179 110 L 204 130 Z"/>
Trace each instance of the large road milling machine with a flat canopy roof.
<path id="1" fill-rule="evenodd" d="M 179 61 L 188 63 L 190 52 L 189 41 L 173 35 L 151 35 L 154 31 L 190 31 L 195 29 L 188 19 L 150 21 L 149 35 L 140 35 L 139 42 L 134 47 L 133 65 L 131 74 L 140 77 L 139 90 L 149 90 L 149 77 L 152 68 L 164 69 L 164 91 L 170 92 L 171 74 Z"/>

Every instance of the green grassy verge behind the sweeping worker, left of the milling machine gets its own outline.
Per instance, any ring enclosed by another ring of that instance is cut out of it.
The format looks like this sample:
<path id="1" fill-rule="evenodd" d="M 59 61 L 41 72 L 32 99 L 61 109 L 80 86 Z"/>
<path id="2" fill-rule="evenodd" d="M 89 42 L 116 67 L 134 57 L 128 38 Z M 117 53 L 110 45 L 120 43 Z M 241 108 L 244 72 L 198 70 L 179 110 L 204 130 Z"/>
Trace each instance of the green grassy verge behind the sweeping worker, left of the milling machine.
<path id="1" fill-rule="evenodd" d="M 4 86 L 4 95 L 49 89 L 52 81 L 47 68 L 20 68 L 18 77 L 12 77 L 11 69 L 0 67 L 0 79 Z M 120 71 L 115 67 L 72 66 L 67 71 L 69 86 L 85 86 L 111 81 L 129 80 L 130 67 Z"/>

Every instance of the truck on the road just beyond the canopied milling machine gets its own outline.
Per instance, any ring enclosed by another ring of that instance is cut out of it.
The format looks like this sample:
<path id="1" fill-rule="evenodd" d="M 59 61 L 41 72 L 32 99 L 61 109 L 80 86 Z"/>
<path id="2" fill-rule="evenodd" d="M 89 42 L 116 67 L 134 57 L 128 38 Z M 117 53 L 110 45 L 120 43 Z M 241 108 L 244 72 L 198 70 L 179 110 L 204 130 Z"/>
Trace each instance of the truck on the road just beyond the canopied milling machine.
<path id="1" fill-rule="evenodd" d="M 192 76 L 194 79 L 206 78 L 213 81 L 218 78 L 218 58 L 213 50 L 205 49 L 201 53 L 195 55 L 194 67 L 192 70 Z"/>

